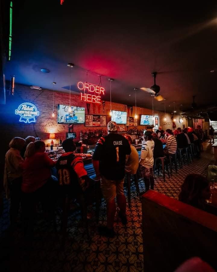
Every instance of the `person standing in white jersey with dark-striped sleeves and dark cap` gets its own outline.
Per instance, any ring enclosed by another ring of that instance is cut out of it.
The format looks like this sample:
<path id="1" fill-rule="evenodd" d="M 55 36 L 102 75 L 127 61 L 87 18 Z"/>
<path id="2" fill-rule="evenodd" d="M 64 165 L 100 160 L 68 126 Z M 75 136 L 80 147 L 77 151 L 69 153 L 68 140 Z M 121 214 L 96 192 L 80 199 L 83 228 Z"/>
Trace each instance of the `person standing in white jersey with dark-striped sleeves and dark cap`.
<path id="1" fill-rule="evenodd" d="M 144 140 L 146 141 L 142 145 L 141 158 L 140 158 L 140 174 L 144 179 L 146 191 L 149 190 L 151 184 L 151 189 L 154 190 L 154 175 L 153 175 L 153 151 L 154 151 L 154 141 L 151 131 L 146 131 Z"/>

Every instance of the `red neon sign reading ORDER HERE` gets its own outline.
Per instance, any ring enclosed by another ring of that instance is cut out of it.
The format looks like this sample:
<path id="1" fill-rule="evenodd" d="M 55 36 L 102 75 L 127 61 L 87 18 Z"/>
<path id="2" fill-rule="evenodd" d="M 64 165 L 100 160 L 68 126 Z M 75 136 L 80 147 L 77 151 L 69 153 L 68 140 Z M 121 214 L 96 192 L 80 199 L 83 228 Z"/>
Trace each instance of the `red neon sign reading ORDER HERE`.
<path id="1" fill-rule="evenodd" d="M 83 91 L 80 96 L 81 101 L 100 104 L 101 95 L 105 94 L 105 89 L 103 87 L 92 83 L 79 81 L 77 87 L 79 90 Z M 85 93 L 85 91 L 90 92 L 91 94 Z"/>

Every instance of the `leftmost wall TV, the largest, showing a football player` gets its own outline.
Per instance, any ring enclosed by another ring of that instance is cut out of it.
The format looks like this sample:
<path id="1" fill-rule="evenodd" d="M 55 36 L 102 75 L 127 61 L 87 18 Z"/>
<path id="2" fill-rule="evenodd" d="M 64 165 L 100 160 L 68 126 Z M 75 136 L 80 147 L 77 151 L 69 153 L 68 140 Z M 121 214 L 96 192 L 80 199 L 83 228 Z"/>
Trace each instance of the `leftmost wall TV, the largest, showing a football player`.
<path id="1" fill-rule="evenodd" d="M 84 124 L 85 108 L 58 104 L 58 124 Z"/>

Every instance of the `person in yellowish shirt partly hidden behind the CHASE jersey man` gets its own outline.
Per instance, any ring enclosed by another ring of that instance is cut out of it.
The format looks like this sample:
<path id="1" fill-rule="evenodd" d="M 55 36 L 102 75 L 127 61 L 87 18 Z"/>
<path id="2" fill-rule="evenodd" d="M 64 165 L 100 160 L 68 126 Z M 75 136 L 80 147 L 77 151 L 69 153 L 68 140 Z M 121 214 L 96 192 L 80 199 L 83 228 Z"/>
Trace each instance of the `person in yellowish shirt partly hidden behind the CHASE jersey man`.
<path id="1" fill-rule="evenodd" d="M 132 146 L 132 138 L 130 135 L 124 135 L 131 146 L 131 154 L 126 155 L 125 172 L 134 175 L 139 167 L 139 154 L 134 146 Z"/>

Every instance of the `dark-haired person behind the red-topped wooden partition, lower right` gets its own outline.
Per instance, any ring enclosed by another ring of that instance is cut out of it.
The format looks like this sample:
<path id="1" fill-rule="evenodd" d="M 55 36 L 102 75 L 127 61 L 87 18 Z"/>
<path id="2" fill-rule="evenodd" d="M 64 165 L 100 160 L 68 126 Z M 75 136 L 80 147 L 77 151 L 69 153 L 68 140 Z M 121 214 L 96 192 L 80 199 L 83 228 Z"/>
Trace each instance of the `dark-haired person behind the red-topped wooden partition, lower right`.
<path id="1" fill-rule="evenodd" d="M 209 181 L 201 175 L 190 174 L 181 186 L 179 200 L 198 209 L 205 209 L 205 200 L 211 197 Z"/>

